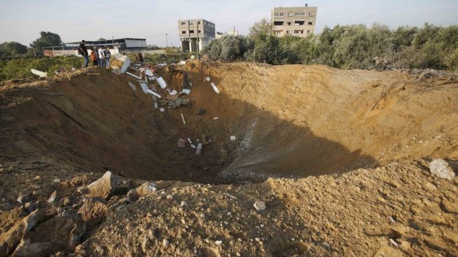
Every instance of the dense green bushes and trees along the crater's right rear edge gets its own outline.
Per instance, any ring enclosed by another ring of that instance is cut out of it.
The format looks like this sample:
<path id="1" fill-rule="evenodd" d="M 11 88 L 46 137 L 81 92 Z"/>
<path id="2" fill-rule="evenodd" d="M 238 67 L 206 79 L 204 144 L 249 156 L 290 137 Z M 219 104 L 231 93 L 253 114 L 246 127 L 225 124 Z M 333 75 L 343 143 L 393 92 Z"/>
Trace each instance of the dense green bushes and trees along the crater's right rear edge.
<path id="1" fill-rule="evenodd" d="M 276 37 L 265 19 L 250 35 L 210 42 L 202 51 L 212 60 L 251 61 L 268 64 L 325 64 L 341 69 L 367 69 L 387 60 L 396 69 L 458 69 L 458 26 L 423 28 L 401 26 L 391 30 L 374 24 L 325 27 L 307 38 Z"/>

